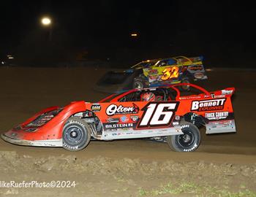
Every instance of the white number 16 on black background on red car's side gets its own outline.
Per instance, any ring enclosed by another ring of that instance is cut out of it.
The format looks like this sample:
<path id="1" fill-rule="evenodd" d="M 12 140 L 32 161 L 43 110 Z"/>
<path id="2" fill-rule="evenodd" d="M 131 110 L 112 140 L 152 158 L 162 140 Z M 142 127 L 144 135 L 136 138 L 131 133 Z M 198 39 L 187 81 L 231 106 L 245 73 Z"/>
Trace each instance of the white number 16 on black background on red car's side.
<path id="1" fill-rule="evenodd" d="M 170 125 L 179 102 L 151 102 L 143 107 L 144 113 L 137 128 L 160 127 Z"/>

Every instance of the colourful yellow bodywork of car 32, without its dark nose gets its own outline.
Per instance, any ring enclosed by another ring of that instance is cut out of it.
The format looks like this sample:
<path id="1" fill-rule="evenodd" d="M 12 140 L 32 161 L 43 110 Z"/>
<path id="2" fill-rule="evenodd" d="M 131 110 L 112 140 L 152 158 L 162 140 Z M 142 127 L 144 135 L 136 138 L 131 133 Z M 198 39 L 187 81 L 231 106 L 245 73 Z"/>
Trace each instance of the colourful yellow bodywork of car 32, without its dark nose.
<path id="1" fill-rule="evenodd" d="M 132 69 L 143 69 L 143 74 L 135 77 L 133 88 L 207 79 L 201 56 L 195 58 L 178 56 L 148 60 L 132 66 Z"/>

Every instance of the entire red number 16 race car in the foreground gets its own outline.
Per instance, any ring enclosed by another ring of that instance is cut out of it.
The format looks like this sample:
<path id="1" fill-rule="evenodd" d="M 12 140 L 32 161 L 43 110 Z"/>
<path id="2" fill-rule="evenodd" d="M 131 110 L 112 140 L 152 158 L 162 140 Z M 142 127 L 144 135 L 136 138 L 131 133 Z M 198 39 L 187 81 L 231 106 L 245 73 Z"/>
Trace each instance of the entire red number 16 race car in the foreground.
<path id="1" fill-rule="evenodd" d="M 179 84 L 187 85 L 187 84 Z M 179 85 L 129 90 L 97 103 L 73 101 L 50 107 L 12 128 L 1 138 L 20 145 L 82 150 L 91 139 L 150 138 L 176 151 L 190 152 L 206 134 L 236 132 L 231 96 L 235 88 L 182 95 Z"/>

